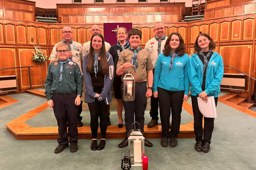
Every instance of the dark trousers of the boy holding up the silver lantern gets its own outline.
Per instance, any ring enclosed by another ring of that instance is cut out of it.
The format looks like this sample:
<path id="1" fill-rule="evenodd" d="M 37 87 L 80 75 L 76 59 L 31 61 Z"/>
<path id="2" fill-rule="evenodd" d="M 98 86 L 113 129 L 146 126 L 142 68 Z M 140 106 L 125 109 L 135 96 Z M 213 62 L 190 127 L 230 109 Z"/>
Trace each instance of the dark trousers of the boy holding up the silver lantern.
<path id="1" fill-rule="evenodd" d="M 123 85 L 121 86 L 123 88 Z M 140 124 L 140 130 L 144 131 L 144 114 L 147 106 L 147 98 L 146 98 L 147 86 L 146 82 L 135 83 L 135 100 L 134 101 L 124 101 L 123 105 L 125 108 L 125 128 L 126 133 L 125 136 L 128 136 L 128 132 L 132 128 L 132 123 L 134 123 L 134 115 L 135 121 Z M 139 129 L 139 125 L 135 124 L 135 129 Z"/>

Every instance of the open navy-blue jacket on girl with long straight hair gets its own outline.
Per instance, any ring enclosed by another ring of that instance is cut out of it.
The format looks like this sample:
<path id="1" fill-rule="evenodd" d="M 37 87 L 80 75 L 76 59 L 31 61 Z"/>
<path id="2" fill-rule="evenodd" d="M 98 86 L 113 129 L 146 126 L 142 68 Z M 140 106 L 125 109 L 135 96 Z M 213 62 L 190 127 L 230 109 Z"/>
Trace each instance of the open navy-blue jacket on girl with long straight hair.
<path id="1" fill-rule="evenodd" d="M 83 76 L 85 83 L 84 101 L 85 103 L 92 103 L 95 101 L 95 96 L 97 93 L 93 90 L 94 87 L 92 85 L 90 73 L 86 71 L 88 60 L 87 56 L 88 53 L 83 56 Z M 99 94 L 98 100 L 104 100 L 106 104 L 110 104 L 112 102 L 111 86 L 114 81 L 114 62 L 112 56 L 108 52 L 106 56 L 109 65 L 109 72 L 104 75 L 104 87 L 102 88 L 101 94 Z"/>

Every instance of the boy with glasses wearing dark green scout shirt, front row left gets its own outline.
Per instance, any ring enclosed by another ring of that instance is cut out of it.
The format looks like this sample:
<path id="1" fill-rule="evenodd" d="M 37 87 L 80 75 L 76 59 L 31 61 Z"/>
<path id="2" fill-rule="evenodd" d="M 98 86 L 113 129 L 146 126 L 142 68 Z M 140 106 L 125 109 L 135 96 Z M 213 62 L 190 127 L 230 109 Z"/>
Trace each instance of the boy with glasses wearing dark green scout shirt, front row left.
<path id="1" fill-rule="evenodd" d="M 77 114 L 83 92 L 83 79 L 78 64 L 68 57 L 68 46 L 58 43 L 56 52 L 58 59 L 49 64 L 45 80 L 47 104 L 53 107 L 60 135 L 57 139 L 59 146 L 54 152 L 62 152 L 68 147 L 69 142 L 70 152 L 76 152 L 78 150 Z"/>

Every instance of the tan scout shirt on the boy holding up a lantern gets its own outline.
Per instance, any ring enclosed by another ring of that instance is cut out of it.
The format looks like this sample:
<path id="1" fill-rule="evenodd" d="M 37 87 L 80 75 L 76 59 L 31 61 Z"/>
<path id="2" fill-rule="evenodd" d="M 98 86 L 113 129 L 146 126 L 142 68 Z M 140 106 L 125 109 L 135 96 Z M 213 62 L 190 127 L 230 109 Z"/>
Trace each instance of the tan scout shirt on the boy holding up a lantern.
<path id="1" fill-rule="evenodd" d="M 119 59 L 117 62 L 116 68 L 122 66 L 123 64 L 132 61 L 132 54 L 133 51 L 126 49 L 122 51 L 119 55 Z M 137 61 L 138 61 L 138 68 L 136 72 L 134 72 L 134 68 L 126 69 L 126 71 L 130 70 L 135 82 L 147 82 L 147 71 L 153 70 L 153 64 L 148 52 L 142 49 L 140 52 L 137 53 Z M 122 79 L 124 78 L 126 72 L 122 74 Z"/>

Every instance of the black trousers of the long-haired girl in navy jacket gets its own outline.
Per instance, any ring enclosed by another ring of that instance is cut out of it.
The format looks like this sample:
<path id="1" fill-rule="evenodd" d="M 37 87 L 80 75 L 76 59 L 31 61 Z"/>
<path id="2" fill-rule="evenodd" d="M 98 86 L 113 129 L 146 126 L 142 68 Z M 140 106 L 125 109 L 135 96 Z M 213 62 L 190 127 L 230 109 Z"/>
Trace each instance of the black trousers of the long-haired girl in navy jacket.
<path id="1" fill-rule="evenodd" d="M 105 101 L 98 101 L 95 99 L 95 102 L 88 103 L 88 107 L 91 115 L 91 131 L 93 139 L 97 138 L 98 126 L 100 126 L 100 136 L 102 139 L 106 138 L 107 132 L 107 109 L 108 105 Z M 98 122 L 100 120 L 100 123 Z"/>

